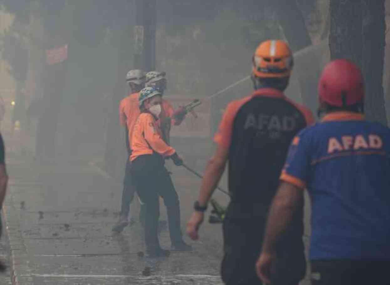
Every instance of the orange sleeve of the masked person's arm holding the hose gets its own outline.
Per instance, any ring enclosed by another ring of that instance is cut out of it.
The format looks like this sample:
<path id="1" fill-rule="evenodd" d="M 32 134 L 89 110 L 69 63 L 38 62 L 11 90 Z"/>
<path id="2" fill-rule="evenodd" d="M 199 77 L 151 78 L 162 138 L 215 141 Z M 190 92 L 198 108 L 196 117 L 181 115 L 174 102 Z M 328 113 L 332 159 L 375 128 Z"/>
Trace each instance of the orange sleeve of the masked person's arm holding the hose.
<path id="1" fill-rule="evenodd" d="M 156 126 L 156 120 L 152 117 L 152 115 L 145 116 L 143 129 L 145 140 L 154 151 L 163 157 L 169 157 L 176 152 L 174 148 L 168 146 L 161 138 L 161 135 L 157 131 L 158 127 Z"/>

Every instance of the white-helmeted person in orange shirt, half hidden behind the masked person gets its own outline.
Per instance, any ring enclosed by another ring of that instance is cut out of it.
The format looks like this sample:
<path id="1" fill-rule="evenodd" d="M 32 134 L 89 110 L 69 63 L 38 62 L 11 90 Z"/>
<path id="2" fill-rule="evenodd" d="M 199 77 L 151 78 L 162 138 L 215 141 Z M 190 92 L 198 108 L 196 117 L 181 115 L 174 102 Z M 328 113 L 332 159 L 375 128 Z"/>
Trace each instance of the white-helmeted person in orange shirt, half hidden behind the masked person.
<path id="1" fill-rule="evenodd" d="M 130 87 L 130 94 L 122 99 L 119 104 L 119 122 L 125 128 L 126 136 L 126 148 L 128 150 L 128 157 L 130 157 L 130 135 L 135 121 L 137 120 L 140 110 L 138 107 L 138 98 L 140 91 L 145 86 L 145 75 L 142 70 L 133 69 L 126 75 L 126 81 Z M 132 219 L 129 218 L 130 203 L 133 201 L 135 188 L 131 183 L 130 175 L 130 160 L 126 161 L 126 169 L 123 181 L 122 203 L 121 203 L 121 215 L 119 221 L 113 226 L 114 232 L 120 233 L 129 224 Z M 142 210 L 141 210 L 142 213 Z M 140 219 L 142 220 L 142 214 Z"/>

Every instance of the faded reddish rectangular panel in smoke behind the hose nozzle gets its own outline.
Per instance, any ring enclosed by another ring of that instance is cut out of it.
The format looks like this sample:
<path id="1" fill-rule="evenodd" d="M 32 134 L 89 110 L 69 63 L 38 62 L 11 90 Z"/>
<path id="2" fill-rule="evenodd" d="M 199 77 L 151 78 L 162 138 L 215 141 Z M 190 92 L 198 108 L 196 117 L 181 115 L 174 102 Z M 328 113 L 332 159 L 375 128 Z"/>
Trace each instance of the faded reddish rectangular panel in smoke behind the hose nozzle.
<path id="1" fill-rule="evenodd" d="M 197 118 L 195 118 L 191 113 L 187 114 L 180 126 L 172 126 L 170 131 L 171 137 L 210 137 L 211 105 L 209 98 L 195 98 L 177 95 L 164 95 L 163 98 L 167 100 L 175 110 L 179 106 L 191 103 L 194 99 L 200 99 L 202 102 L 202 104 L 194 108 Z"/>

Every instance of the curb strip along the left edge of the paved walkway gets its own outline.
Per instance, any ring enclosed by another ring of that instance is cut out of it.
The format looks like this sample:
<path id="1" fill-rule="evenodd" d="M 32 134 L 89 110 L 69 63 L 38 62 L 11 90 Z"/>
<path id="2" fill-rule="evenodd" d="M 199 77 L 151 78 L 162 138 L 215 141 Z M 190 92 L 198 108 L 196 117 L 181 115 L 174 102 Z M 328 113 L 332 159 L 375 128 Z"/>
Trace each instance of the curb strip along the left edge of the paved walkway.
<path id="1" fill-rule="evenodd" d="M 21 232 L 20 213 L 14 206 L 10 189 L 8 192 L 3 206 L 3 215 L 11 251 L 11 282 L 12 285 L 33 285 L 33 278 L 28 265 L 27 248 Z"/>

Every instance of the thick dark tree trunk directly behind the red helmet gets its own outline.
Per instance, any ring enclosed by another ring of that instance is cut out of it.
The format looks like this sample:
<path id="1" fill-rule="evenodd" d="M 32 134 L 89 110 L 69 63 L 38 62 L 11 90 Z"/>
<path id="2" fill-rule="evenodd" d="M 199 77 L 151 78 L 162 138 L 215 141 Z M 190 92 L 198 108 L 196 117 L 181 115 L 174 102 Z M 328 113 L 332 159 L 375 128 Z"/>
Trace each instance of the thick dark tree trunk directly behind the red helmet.
<path id="1" fill-rule="evenodd" d="M 330 57 L 355 62 L 365 79 L 367 119 L 387 124 L 383 95 L 384 0 L 330 1 Z"/>

